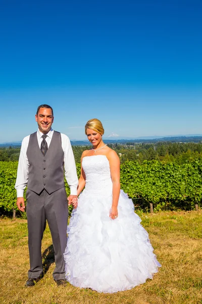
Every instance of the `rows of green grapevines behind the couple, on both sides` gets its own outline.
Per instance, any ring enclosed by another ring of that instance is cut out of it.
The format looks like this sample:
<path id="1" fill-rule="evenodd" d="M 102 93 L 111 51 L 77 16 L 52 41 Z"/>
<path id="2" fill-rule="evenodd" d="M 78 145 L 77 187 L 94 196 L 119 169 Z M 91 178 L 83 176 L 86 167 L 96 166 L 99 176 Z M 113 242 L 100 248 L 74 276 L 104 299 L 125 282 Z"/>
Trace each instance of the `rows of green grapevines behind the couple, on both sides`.
<path id="1" fill-rule="evenodd" d="M 1 214 L 13 212 L 15 215 L 17 210 L 14 188 L 17 166 L 18 162 L 0 162 Z M 80 176 L 80 164 L 76 167 Z M 65 186 L 69 195 L 67 182 Z M 197 210 L 202 199 L 202 161 L 182 165 L 159 161 L 125 162 L 121 165 L 121 188 L 135 206 L 143 210 Z"/>

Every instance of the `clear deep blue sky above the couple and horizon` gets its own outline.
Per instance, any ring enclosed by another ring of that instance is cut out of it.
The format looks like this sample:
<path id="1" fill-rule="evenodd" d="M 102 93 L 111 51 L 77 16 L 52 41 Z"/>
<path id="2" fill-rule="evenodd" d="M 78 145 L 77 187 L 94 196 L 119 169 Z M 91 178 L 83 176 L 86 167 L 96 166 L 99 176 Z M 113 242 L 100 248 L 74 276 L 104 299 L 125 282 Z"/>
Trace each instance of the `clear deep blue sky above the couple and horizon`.
<path id="1" fill-rule="evenodd" d="M 199 0 L 6 1 L 0 12 L 0 142 L 36 130 L 39 104 L 53 128 L 84 139 L 202 134 Z"/>

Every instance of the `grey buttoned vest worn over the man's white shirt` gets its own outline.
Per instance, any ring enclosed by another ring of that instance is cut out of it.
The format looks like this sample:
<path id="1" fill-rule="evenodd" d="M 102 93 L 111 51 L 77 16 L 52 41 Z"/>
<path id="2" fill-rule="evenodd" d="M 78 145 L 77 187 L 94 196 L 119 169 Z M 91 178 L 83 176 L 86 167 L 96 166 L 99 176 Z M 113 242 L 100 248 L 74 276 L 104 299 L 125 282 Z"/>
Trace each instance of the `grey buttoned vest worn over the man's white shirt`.
<path id="1" fill-rule="evenodd" d="M 48 194 L 51 194 L 65 186 L 64 151 L 59 132 L 54 131 L 45 157 L 39 148 L 36 132 L 31 134 L 27 158 L 29 161 L 28 189 L 37 194 L 45 189 Z"/>

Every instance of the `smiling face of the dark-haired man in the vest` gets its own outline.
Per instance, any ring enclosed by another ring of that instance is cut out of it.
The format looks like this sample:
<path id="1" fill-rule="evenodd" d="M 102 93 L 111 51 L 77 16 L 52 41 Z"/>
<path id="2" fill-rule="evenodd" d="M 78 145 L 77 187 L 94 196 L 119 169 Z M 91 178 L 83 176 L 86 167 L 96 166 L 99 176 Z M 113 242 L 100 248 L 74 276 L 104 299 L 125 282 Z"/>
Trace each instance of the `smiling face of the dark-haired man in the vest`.
<path id="1" fill-rule="evenodd" d="M 54 122 L 52 109 L 40 108 L 38 114 L 35 115 L 35 119 L 38 124 L 39 131 L 43 134 L 48 133 Z"/>

